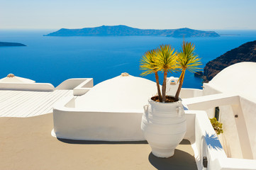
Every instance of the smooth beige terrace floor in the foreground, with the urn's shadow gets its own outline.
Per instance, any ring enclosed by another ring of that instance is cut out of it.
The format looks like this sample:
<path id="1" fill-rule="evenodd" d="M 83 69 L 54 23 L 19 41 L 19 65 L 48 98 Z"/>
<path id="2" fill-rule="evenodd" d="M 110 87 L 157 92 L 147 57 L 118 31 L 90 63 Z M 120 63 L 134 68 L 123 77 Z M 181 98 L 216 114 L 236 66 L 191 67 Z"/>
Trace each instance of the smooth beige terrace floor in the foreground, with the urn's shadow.
<path id="1" fill-rule="evenodd" d="M 174 157 L 160 159 L 146 142 L 58 140 L 52 124 L 52 113 L 0 118 L 0 169 L 196 169 L 187 140 Z"/>

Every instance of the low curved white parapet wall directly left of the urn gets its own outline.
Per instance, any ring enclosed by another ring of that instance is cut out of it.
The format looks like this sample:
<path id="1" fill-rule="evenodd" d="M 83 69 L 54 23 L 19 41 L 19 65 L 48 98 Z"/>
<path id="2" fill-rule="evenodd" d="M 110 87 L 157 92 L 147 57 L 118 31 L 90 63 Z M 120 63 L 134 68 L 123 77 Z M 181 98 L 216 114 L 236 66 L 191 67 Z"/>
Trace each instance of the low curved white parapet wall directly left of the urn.
<path id="1" fill-rule="evenodd" d="M 53 108 L 54 132 L 72 140 L 145 140 L 140 130 L 143 111 L 95 112 L 75 108 L 67 97 Z"/>

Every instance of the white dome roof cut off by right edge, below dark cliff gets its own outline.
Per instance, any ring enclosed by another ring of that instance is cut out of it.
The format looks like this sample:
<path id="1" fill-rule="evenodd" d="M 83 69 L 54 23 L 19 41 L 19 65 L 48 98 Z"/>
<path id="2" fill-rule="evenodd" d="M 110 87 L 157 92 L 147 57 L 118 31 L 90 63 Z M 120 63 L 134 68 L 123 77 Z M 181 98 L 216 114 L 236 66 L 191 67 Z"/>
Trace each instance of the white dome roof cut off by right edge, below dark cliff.
<path id="1" fill-rule="evenodd" d="M 208 83 L 221 92 L 256 96 L 256 62 L 240 62 L 219 72 Z"/>

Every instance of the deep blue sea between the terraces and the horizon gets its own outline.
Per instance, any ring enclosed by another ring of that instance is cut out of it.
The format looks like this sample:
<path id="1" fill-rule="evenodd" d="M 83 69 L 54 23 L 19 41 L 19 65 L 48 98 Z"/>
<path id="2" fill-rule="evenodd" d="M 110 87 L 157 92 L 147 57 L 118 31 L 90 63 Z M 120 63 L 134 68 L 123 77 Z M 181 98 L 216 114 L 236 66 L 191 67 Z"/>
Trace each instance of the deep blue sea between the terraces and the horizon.
<path id="1" fill-rule="evenodd" d="M 18 77 L 57 86 L 70 78 L 93 78 L 94 84 L 122 72 L 140 77 L 140 59 L 144 52 L 158 45 L 170 44 L 175 50 L 182 38 L 151 36 L 128 37 L 48 37 L 55 30 L 0 30 L 0 41 L 20 42 L 27 47 L 0 47 L 0 78 L 13 73 Z M 256 40 L 256 30 L 216 30 L 219 38 L 186 38 L 196 46 L 203 69 L 208 61 L 225 52 Z M 180 73 L 168 74 L 179 77 Z M 162 74 L 160 74 L 162 77 Z M 155 81 L 154 75 L 145 77 Z M 162 81 L 162 78 L 160 78 Z M 185 88 L 201 89 L 201 79 L 185 75 Z"/>

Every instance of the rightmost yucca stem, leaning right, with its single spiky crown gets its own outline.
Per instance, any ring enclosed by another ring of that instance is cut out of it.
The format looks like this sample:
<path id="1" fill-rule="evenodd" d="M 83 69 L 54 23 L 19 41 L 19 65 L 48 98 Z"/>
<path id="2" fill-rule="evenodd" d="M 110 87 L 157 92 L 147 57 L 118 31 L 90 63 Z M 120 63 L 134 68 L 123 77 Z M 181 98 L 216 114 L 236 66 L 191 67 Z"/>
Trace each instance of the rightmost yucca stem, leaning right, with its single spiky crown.
<path id="1" fill-rule="evenodd" d="M 179 93 L 182 90 L 186 70 L 189 70 L 189 72 L 196 72 L 200 69 L 199 65 L 201 65 L 201 59 L 194 51 L 195 46 L 193 43 L 183 41 L 182 50 L 178 53 L 177 60 L 178 67 L 182 71 L 182 74 L 179 77 L 179 87 L 175 94 L 175 101 L 179 101 Z"/>

